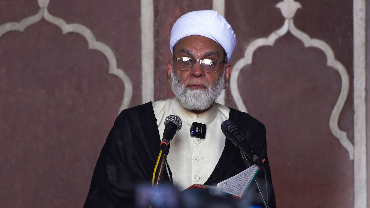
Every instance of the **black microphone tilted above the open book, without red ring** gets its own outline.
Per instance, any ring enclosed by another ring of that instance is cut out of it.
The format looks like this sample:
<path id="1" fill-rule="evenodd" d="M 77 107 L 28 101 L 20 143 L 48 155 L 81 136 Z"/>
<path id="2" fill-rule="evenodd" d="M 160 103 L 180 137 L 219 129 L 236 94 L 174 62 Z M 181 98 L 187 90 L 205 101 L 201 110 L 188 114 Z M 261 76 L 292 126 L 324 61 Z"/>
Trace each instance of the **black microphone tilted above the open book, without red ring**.
<path id="1" fill-rule="evenodd" d="M 236 124 L 234 122 L 230 120 L 223 121 L 221 124 L 221 130 L 236 147 L 239 147 L 240 150 L 249 157 L 250 160 L 253 160 L 253 162 L 255 162 L 255 164 L 257 164 L 259 167 L 264 166 L 262 160 L 248 144 L 243 135 L 238 131 L 238 128 L 236 128 Z"/>

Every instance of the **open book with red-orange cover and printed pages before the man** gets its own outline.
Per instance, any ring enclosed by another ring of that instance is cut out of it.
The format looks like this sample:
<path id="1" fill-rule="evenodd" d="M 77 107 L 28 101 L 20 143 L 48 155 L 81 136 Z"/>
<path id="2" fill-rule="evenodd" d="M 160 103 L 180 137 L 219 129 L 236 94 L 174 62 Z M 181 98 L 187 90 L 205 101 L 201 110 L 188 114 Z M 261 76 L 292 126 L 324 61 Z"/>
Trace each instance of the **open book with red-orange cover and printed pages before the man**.
<path id="1" fill-rule="evenodd" d="M 256 177 L 258 171 L 259 167 L 254 164 L 248 169 L 240 172 L 239 174 L 236 174 L 233 177 L 226 179 L 225 181 L 219 182 L 216 187 L 211 185 L 193 184 L 186 190 L 206 188 L 215 191 L 222 191 L 227 194 L 231 194 L 233 197 L 243 198 L 245 192 L 249 188 L 250 184 L 253 182 L 253 179 Z"/>

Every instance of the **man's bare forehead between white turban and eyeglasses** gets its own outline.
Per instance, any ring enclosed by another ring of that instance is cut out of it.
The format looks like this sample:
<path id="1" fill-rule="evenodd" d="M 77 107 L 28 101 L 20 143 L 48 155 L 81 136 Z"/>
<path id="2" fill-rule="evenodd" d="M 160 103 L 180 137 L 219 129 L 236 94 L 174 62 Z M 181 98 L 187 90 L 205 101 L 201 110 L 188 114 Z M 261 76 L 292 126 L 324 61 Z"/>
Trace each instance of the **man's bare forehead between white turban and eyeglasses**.
<path id="1" fill-rule="evenodd" d="M 195 56 L 208 52 L 215 52 L 218 56 L 223 56 L 223 48 L 216 41 L 203 36 L 186 36 L 179 40 L 174 46 L 174 54 L 181 53 L 184 49 L 190 51 Z"/>

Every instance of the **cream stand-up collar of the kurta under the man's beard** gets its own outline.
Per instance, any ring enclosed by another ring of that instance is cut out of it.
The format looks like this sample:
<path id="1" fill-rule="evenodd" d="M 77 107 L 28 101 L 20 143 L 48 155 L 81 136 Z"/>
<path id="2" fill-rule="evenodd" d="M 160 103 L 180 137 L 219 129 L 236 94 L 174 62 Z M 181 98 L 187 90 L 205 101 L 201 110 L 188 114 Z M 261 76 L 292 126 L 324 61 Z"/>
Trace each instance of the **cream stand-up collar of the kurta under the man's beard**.
<path id="1" fill-rule="evenodd" d="M 196 114 L 184 108 L 176 97 L 172 99 L 172 110 L 181 118 L 183 123 L 188 124 L 189 126 L 191 126 L 193 122 L 208 125 L 215 120 L 217 115 L 216 105 L 213 105 L 208 111 L 205 111 L 201 114 Z"/>

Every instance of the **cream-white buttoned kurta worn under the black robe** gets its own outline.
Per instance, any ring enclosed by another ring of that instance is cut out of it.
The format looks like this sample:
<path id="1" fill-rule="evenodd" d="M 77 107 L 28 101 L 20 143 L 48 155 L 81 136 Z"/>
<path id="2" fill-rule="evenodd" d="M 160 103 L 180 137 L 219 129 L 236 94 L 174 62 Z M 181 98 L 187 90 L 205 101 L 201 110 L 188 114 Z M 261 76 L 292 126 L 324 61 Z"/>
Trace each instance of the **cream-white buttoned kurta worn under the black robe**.
<path id="1" fill-rule="evenodd" d="M 230 109 L 215 103 L 208 111 L 195 114 L 182 107 L 177 98 L 156 101 L 152 105 L 161 140 L 168 115 L 177 115 L 182 121 L 182 128 L 172 139 L 167 156 L 173 183 L 181 191 L 192 184 L 204 184 L 225 147 L 221 123 L 229 118 Z M 205 139 L 190 136 L 193 122 L 207 125 Z"/>

